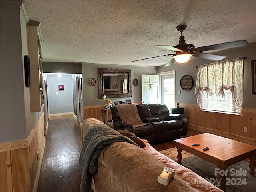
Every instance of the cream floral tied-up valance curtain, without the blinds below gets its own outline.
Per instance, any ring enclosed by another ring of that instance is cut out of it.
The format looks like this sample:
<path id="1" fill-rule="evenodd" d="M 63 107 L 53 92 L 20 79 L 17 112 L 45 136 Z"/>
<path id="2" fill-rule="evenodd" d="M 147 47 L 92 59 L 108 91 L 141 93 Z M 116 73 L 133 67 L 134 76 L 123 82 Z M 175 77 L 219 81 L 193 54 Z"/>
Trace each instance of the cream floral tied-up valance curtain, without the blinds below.
<path id="1" fill-rule="evenodd" d="M 202 108 L 202 92 L 224 97 L 225 89 L 231 91 L 233 110 L 238 110 L 242 106 L 243 81 L 242 59 L 198 66 L 195 88 L 198 106 Z"/>

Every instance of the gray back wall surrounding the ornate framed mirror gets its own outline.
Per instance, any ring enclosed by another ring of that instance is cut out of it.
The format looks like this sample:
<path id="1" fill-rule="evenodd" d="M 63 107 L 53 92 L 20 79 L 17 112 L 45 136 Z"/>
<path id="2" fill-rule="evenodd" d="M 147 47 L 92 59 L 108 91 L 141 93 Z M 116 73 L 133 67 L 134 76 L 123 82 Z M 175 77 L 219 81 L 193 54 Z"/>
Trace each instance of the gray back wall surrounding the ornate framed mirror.
<path id="1" fill-rule="evenodd" d="M 98 98 L 98 68 L 111 68 L 111 69 L 130 69 L 132 80 L 138 79 L 138 86 L 132 84 L 132 97 L 127 98 L 110 98 L 112 103 L 115 101 L 123 101 L 131 99 L 132 102 L 141 102 L 141 75 L 142 74 L 156 74 L 154 67 L 137 67 L 137 66 L 120 66 L 120 65 L 106 65 L 106 64 L 90 64 L 82 63 L 83 72 L 83 96 L 84 106 L 102 105 L 104 99 Z M 96 80 L 95 86 L 90 86 L 89 80 L 94 78 Z"/>

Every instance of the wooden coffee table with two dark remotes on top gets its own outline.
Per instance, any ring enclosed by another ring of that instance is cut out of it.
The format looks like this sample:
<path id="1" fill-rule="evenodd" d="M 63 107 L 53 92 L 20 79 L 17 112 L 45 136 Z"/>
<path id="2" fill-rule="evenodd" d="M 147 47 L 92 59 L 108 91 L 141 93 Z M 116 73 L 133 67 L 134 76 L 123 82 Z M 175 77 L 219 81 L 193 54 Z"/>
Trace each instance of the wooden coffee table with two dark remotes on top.
<path id="1" fill-rule="evenodd" d="M 245 144 L 232 139 L 224 138 L 210 133 L 198 134 L 186 138 L 176 139 L 176 148 L 178 150 L 178 163 L 181 164 L 181 150 L 190 152 L 208 162 L 211 162 L 220 168 L 224 173 L 228 166 L 250 158 L 249 167 L 250 174 L 254 175 L 256 146 Z M 200 144 L 200 146 L 191 146 L 191 144 Z M 204 151 L 203 148 L 210 149 Z M 226 175 L 219 174 L 220 189 L 226 190 Z"/>

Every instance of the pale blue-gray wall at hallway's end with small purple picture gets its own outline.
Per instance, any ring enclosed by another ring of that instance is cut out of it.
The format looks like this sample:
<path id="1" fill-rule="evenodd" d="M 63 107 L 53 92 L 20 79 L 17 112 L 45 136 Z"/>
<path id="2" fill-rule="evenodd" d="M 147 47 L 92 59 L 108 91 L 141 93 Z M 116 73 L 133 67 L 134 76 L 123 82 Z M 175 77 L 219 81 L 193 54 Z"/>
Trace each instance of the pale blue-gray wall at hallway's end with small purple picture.
<path id="1" fill-rule="evenodd" d="M 73 85 L 72 74 L 47 73 L 49 114 L 73 112 Z M 64 90 L 59 91 L 58 85 L 64 85 Z M 58 95 L 56 95 L 58 93 Z"/>

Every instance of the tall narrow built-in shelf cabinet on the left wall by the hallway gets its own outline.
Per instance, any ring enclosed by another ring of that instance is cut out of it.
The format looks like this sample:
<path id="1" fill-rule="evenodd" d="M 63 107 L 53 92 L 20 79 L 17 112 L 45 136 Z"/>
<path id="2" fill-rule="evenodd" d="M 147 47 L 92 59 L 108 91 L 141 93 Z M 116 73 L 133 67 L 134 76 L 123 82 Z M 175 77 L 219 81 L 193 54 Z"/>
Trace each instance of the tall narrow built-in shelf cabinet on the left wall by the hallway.
<path id="1" fill-rule="evenodd" d="M 44 106 L 42 50 L 39 38 L 40 22 L 27 25 L 28 57 L 30 58 L 30 111 L 41 111 Z"/>

